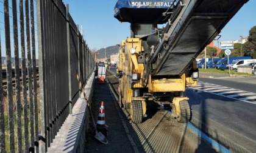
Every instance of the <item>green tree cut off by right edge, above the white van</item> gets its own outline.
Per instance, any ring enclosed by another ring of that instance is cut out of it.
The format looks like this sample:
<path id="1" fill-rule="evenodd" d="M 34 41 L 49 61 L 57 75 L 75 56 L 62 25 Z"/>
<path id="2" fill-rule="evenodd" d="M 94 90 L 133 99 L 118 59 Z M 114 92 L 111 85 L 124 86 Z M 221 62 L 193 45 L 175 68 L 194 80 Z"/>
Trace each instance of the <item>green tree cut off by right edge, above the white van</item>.
<path id="1" fill-rule="evenodd" d="M 249 36 L 247 42 L 243 44 L 244 56 L 252 56 L 256 58 L 256 26 L 249 30 Z"/>

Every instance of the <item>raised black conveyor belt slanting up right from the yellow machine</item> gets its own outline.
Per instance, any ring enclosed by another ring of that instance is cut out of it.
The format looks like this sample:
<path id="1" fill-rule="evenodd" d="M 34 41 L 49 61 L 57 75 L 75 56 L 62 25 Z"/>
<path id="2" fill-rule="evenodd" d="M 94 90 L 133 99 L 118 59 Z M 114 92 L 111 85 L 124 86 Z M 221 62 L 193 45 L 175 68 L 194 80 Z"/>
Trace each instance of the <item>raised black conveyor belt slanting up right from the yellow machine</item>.
<path id="1" fill-rule="evenodd" d="M 181 75 L 246 2 L 247 0 L 183 1 L 179 16 L 172 25 L 166 26 L 168 41 L 163 39 L 151 58 L 151 63 L 155 65 L 152 76 Z M 169 47 L 163 49 L 163 44 Z"/>

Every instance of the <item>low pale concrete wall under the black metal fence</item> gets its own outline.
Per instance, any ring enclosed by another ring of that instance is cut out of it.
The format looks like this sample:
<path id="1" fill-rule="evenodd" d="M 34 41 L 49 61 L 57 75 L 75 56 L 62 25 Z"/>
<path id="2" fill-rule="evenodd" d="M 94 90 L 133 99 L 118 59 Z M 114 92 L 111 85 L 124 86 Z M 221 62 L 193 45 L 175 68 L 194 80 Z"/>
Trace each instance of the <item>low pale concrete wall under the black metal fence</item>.
<path id="1" fill-rule="evenodd" d="M 85 86 L 85 95 L 91 103 L 94 89 L 94 72 Z M 84 95 L 74 105 L 47 152 L 85 152 L 85 136 L 90 115 Z M 89 104 L 90 105 L 90 104 Z"/>

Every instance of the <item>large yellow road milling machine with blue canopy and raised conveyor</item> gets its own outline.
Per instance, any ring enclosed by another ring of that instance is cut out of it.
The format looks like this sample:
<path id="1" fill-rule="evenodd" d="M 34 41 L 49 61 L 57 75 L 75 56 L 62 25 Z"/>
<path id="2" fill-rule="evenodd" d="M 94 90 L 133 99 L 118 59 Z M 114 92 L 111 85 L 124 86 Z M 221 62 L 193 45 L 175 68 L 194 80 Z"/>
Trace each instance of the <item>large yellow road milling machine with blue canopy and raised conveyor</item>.
<path id="1" fill-rule="evenodd" d="M 190 120 L 185 90 L 197 86 L 196 56 L 247 1 L 116 2 L 115 18 L 130 22 L 131 33 L 119 44 L 119 104 L 130 109 L 133 123 L 141 123 L 149 100 L 170 104 L 179 123 Z"/>

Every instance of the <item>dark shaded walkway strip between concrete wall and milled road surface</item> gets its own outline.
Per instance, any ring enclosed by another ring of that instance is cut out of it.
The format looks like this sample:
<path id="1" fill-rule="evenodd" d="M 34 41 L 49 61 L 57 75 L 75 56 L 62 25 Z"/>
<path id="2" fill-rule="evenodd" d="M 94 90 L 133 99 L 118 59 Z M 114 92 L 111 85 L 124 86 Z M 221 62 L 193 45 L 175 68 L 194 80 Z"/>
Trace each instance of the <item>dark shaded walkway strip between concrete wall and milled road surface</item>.
<path id="1" fill-rule="evenodd" d="M 133 152 L 133 148 L 127 137 L 127 129 L 123 126 L 123 124 L 126 124 L 128 121 L 124 121 L 124 115 L 121 114 L 122 111 L 118 107 L 116 100 L 113 98 L 107 81 L 105 81 L 104 84 L 99 84 L 95 81 L 94 84 L 91 106 L 95 122 L 98 120 L 101 101 L 104 101 L 105 124 L 108 126 L 108 144 L 103 144 L 94 138 L 94 129 L 90 122 L 86 138 L 86 152 Z"/>

